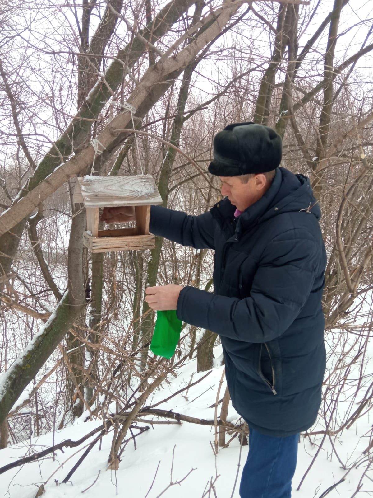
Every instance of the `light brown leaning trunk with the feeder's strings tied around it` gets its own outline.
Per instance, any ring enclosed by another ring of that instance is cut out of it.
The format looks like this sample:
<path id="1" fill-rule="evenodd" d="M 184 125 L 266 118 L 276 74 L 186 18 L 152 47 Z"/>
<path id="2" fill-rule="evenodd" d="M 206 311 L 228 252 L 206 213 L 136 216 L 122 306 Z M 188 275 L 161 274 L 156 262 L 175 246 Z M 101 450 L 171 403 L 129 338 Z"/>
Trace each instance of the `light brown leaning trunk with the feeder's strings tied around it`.
<path id="1" fill-rule="evenodd" d="M 216 9 L 216 11 L 204 19 L 201 29 L 195 34 L 193 41 L 185 48 L 174 56 L 162 57 L 154 66 L 146 71 L 128 99 L 128 104 L 137 109 L 137 117 L 145 116 L 170 87 L 172 82 L 187 68 L 197 53 L 219 35 L 221 28 L 235 14 L 243 2 L 243 0 L 239 0 L 237 2 L 224 3 L 222 7 Z M 98 147 L 99 150 L 93 147 L 92 144 L 88 145 L 61 166 L 61 168 L 52 172 L 47 179 L 37 183 L 25 197 L 16 199 L 17 202 L 0 216 L 0 235 L 21 222 L 40 202 L 51 195 L 73 175 L 91 167 L 93 161 L 107 159 L 128 136 L 128 132 L 122 132 L 121 129 L 128 129 L 131 126 L 132 119 L 129 112 L 118 115 L 97 136 L 96 143 L 100 144 Z M 33 180 L 32 184 L 34 183 Z"/>

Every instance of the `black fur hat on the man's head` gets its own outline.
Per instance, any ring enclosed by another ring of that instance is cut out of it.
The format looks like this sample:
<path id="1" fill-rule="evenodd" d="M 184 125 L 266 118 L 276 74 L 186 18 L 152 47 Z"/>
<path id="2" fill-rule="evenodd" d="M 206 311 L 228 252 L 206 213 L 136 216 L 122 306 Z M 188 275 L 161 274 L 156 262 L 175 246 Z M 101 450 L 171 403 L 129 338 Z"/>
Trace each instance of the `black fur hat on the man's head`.
<path id="1" fill-rule="evenodd" d="M 266 173 L 280 166 L 282 140 L 263 124 L 233 123 L 214 136 L 214 159 L 208 170 L 217 176 Z"/>

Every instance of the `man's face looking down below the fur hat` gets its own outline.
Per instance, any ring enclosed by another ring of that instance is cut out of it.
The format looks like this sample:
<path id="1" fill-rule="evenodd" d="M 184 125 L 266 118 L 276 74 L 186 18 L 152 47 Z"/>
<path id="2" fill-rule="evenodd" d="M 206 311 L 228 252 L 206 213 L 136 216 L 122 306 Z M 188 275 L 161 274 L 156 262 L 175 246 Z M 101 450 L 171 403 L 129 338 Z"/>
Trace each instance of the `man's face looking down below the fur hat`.
<path id="1" fill-rule="evenodd" d="M 228 196 L 231 204 L 239 211 L 245 211 L 265 192 L 266 177 L 262 174 L 249 178 L 247 183 L 242 183 L 239 176 L 219 176 L 219 178 L 221 195 Z"/>

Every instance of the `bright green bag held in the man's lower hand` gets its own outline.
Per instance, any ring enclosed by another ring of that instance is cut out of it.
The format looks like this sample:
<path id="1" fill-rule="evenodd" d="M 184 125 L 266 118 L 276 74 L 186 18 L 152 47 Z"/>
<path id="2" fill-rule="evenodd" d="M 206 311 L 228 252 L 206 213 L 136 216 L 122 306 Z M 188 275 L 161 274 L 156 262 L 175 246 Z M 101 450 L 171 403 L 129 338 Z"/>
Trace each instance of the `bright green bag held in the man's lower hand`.
<path id="1" fill-rule="evenodd" d="M 157 311 L 157 321 L 150 349 L 155 355 L 170 359 L 175 353 L 182 331 L 182 321 L 176 310 Z"/>

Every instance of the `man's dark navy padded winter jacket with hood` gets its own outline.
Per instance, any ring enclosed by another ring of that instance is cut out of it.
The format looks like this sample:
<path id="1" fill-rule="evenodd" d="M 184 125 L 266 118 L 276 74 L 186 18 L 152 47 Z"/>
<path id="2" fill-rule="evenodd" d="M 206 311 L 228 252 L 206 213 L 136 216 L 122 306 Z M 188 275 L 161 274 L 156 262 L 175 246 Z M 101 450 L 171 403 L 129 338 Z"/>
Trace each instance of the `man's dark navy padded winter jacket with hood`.
<path id="1" fill-rule="evenodd" d="M 214 293 L 185 287 L 178 317 L 219 334 L 233 406 L 263 434 L 308 429 L 325 371 L 326 253 L 309 180 L 278 168 L 238 218 L 228 198 L 199 216 L 152 206 L 150 231 L 215 250 Z"/>

